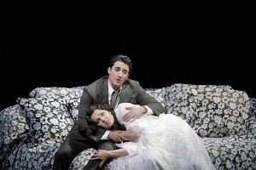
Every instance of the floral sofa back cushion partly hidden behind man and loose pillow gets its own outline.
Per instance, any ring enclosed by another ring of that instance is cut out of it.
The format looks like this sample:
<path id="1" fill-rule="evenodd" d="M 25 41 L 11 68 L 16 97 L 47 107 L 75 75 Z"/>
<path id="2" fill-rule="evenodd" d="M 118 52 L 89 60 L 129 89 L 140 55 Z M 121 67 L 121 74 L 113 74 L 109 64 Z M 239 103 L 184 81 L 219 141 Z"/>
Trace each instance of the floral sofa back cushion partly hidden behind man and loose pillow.
<path id="1" fill-rule="evenodd" d="M 54 96 L 63 96 L 65 102 L 68 106 L 68 111 L 73 117 L 74 121 L 78 120 L 79 114 L 79 102 L 80 97 L 83 94 L 83 87 L 75 88 L 59 88 L 59 87 L 50 87 L 50 88 L 34 88 L 29 97 L 31 98 L 48 98 Z"/>

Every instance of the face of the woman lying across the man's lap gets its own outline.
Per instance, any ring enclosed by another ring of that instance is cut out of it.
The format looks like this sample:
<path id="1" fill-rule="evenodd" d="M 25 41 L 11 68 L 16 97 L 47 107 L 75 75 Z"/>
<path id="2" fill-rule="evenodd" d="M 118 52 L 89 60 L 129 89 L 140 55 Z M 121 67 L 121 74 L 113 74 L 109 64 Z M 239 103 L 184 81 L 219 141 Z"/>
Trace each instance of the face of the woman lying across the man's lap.
<path id="1" fill-rule="evenodd" d="M 99 127 L 109 129 L 113 127 L 113 115 L 110 111 L 96 109 L 90 118 L 97 123 Z"/>

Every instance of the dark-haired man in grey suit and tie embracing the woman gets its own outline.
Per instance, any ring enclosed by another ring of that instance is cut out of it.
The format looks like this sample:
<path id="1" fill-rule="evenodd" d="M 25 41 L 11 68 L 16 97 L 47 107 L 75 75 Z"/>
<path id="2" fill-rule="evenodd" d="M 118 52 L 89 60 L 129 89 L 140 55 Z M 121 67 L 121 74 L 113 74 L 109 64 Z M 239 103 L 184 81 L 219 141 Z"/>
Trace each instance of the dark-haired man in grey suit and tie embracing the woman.
<path id="1" fill-rule="evenodd" d="M 96 82 L 84 87 L 79 104 L 79 120 L 67 135 L 55 153 L 53 170 L 66 170 L 79 154 L 88 148 L 100 150 L 116 150 L 113 142 L 129 140 L 129 131 L 109 131 L 103 128 L 95 129 L 87 121 L 86 111 L 90 105 L 108 104 L 117 106 L 119 103 L 130 102 L 141 107 L 127 108 L 124 121 L 134 121 L 143 114 L 159 116 L 164 108 L 154 97 L 146 93 L 139 82 L 129 79 L 132 62 L 125 55 L 115 55 L 109 61 L 108 76 L 101 77 Z M 112 94 L 117 94 L 113 97 Z M 115 98 L 115 99 L 113 99 Z M 114 100 L 113 104 L 111 101 Z M 101 160 L 91 160 L 84 169 L 98 169 Z"/>

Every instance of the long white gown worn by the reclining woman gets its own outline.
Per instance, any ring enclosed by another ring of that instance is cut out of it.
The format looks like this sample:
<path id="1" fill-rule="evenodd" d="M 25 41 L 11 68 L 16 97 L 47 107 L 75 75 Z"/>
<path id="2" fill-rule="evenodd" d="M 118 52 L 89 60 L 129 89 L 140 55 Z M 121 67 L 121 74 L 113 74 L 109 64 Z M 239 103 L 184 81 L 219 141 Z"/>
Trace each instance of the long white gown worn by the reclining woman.
<path id="1" fill-rule="evenodd" d="M 113 159 L 109 163 L 112 170 L 213 170 L 200 137 L 183 119 L 172 114 L 142 116 L 134 122 L 124 122 L 125 106 L 122 103 L 115 113 L 126 129 L 134 129 L 139 134 L 136 142 L 117 144 L 127 150 L 128 156 Z"/>

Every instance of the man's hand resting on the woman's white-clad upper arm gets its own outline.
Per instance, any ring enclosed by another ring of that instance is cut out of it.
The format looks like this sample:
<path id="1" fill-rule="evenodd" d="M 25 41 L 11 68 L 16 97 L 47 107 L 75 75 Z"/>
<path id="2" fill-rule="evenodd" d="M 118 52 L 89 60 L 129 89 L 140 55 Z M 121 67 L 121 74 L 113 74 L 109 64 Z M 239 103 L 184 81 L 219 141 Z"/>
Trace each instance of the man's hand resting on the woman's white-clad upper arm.
<path id="1" fill-rule="evenodd" d="M 123 117 L 125 122 L 133 122 L 137 118 L 143 116 L 143 114 L 147 113 L 147 109 L 143 106 L 136 107 L 136 106 L 131 106 L 131 107 L 125 107 L 127 112 L 125 113 L 125 116 Z"/>

